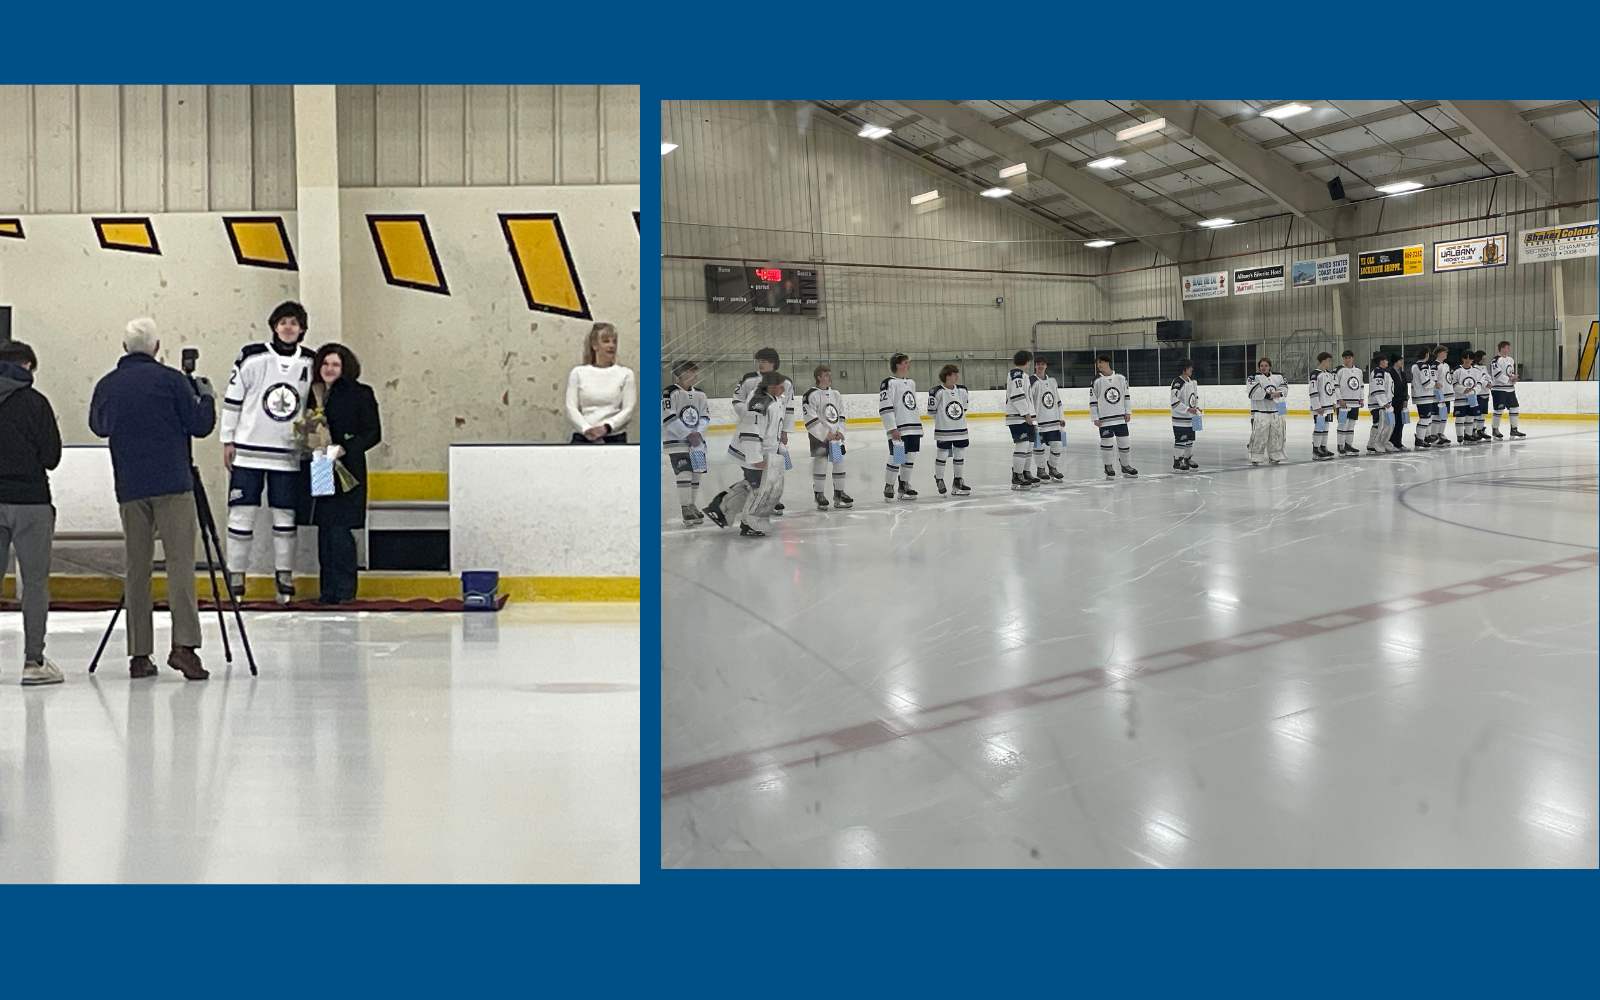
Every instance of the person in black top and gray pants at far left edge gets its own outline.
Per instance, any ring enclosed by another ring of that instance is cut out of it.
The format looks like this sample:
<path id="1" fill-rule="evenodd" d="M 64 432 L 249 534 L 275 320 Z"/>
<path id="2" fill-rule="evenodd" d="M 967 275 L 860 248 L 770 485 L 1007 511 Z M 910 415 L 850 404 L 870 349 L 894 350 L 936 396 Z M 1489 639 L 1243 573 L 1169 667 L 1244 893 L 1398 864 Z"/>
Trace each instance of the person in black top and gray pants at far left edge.
<path id="1" fill-rule="evenodd" d="M 22 597 L 22 683 L 56 685 L 61 669 L 45 659 L 45 619 L 56 538 L 50 470 L 61 464 L 61 429 L 50 400 L 34 389 L 35 368 L 32 347 L 0 344 L 0 573 L 14 550 Z"/>

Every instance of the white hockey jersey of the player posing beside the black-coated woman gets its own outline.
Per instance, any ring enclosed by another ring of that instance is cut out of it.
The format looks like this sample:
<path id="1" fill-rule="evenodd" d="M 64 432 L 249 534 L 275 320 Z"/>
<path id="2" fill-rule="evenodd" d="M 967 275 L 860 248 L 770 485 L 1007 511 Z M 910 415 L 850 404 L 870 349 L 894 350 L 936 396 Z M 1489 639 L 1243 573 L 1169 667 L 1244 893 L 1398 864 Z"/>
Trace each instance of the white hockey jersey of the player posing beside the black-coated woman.
<path id="1" fill-rule="evenodd" d="M 310 398 L 317 355 L 296 344 L 278 354 L 270 344 L 245 344 L 222 395 L 224 445 L 234 445 L 234 464 L 245 469 L 299 472 L 301 446 L 294 421 Z"/>

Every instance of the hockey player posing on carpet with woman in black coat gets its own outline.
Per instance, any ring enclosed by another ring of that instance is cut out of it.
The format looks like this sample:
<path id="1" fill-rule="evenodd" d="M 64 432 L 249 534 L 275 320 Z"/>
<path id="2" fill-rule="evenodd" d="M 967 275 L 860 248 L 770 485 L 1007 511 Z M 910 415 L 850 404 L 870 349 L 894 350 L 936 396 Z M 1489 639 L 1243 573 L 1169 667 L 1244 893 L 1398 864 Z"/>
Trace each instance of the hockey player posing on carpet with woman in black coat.
<path id="1" fill-rule="evenodd" d="M 222 464 L 227 467 L 229 589 L 245 594 L 254 544 L 256 509 L 266 490 L 272 509 L 272 568 L 278 603 L 294 600 L 294 506 L 301 443 L 294 421 L 310 397 L 315 354 L 306 336 L 306 309 L 283 302 L 272 310 L 264 344 L 246 344 L 234 362 L 222 397 Z"/>

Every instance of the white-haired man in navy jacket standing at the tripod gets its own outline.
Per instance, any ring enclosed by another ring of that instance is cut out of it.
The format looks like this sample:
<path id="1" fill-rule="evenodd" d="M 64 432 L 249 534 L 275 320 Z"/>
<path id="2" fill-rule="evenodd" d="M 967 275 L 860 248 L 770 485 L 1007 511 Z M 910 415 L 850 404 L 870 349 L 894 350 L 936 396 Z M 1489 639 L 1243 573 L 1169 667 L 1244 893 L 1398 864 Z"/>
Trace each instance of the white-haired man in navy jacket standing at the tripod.
<path id="1" fill-rule="evenodd" d="M 150 571 L 157 533 L 166 550 L 166 603 L 173 648 L 166 666 L 187 680 L 210 677 L 200 662 L 200 608 L 195 603 L 195 518 L 190 438 L 216 426 L 216 392 L 157 360 L 155 320 L 128 323 L 117 368 L 94 386 L 90 430 L 110 438 L 110 466 L 128 552 L 123 598 L 128 606 L 128 675 L 155 677 L 150 624 Z"/>

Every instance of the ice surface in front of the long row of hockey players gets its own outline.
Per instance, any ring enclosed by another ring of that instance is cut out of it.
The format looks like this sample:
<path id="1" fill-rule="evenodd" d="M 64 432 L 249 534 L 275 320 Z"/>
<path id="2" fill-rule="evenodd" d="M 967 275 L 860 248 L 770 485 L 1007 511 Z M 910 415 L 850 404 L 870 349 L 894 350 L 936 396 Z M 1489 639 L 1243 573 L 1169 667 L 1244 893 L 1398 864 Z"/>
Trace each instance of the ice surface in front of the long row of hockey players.
<path id="1" fill-rule="evenodd" d="M 974 421 L 971 498 L 925 451 L 890 504 L 851 426 L 854 510 L 802 451 L 765 539 L 683 526 L 662 461 L 662 864 L 1594 867 L 1597 432 L 1523 429 L 1312 464 L 1291 418 L 1251 469 L 1211 418 L 1174 475 L 1139 416 L 1106 482 L 1078 418 L 1018 494 Z"/>

